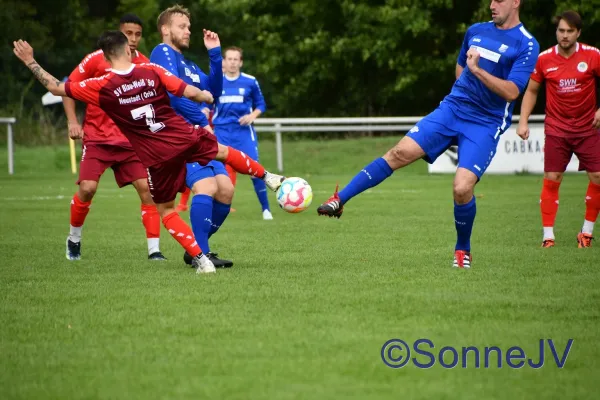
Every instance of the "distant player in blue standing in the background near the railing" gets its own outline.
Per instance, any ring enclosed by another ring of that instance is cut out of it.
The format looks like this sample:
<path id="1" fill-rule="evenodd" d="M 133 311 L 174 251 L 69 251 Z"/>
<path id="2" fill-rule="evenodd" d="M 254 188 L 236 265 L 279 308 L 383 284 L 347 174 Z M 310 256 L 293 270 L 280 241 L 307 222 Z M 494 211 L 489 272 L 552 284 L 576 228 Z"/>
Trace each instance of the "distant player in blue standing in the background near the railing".
<path id="1" fill-rule="evenodd" d="M 252 75 L 240 72 L 243 52 L 239 47 L 225 49 L 223 59 L 223 92 L 215 96 L 213 125 L 219 141 L 243 151 L 253 160 L 258 157 L 258 137 L 252 123 L 265 112 L 265 99 L 258 81 Z M 235 185 L 236 173 L 227 167 L 231 182 Z M 271 220 L 267 188 L 261 179 L 252 178 L 254 191 L 262 207 L 263 219 Z"/>

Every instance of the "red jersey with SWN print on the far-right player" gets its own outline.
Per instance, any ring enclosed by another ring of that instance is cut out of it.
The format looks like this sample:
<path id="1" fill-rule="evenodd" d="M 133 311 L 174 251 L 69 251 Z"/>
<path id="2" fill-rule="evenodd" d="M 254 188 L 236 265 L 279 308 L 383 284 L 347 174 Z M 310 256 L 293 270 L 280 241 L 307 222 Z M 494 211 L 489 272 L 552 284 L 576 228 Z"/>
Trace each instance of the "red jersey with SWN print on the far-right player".
<path id="1" fill-rule="evenodd" d="M 597 110 L 596 77 L 600 76 L 600 51 L 577 43 L 565 58 L 558 45 L 540 53 L 531 79 L 546 82 L 547 135 L 580 137 L 597 134 L 592 127 Z"/>

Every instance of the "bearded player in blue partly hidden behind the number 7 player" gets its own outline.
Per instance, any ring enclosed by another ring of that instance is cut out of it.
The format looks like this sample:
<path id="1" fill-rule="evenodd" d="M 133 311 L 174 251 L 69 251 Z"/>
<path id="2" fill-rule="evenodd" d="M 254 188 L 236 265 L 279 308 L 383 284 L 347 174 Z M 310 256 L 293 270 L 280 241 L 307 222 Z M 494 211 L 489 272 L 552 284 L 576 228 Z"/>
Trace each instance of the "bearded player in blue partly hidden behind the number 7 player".
<path id="1" fill-rule="evenodd" d="M 189 47 L 190 26 L 190 13 L 186 8 L 176 5 L 163 11 L 158 17 L 163 42 L 152 50 L 150 61 L 163 66 L 189 85 L 209 90 L 216 98 L 223 87 L 219 37 L 214 32 L 204 31 L 204 44 L 210 58 L 210 75 L 207 76 L 182 54 L 182 50 Z M 211 130 L 207 116 L 202 111 L 204 105 L 185 97 L 169 96 L 171 106 L 178 114 L 191 124 Z M 190 221 L 198 245 L 215 267 L 231 267 L 231 261 L 219 259 L 208 245 L 208 239 L 219 229 L 231 209 L 234 188 L 225 166 L 219 161 L 211 161 L 206 166 L 187 164 L 186 184 L 194 193 Z M 186 253 L 184 260 L 191 264 L 192 257 Z"/>

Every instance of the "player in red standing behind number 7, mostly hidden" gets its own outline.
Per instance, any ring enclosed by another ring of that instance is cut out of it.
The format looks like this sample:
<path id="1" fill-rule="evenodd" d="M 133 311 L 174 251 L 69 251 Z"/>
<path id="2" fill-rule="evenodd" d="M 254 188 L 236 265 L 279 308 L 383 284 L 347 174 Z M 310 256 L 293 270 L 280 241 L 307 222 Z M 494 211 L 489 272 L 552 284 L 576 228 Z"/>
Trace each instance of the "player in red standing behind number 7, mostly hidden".
<path id="1" fill-rule="evenodd" d="M 137 50 L 142 38 L 141 19 L 134 14 L 126 14 L 119 22 L 119 29 L 127 36 L 132 61 L 149 62 L 148 58 Z M 110 71 L 110 64 L 105 60 L 102 50 L 97 50 L 85 56 L 79 66 L 71 72 L 69 80 L 79 82 L 105 75 L 108 71 Z M 148 189 L 148 174 L 127 138 L 100 107 L 94 104 L 87 105 L 82 127 L 77 119 L 75 100 L 63 97 L 63 106 L 68 120 L 69 136 L 71 139 L 83 139 L 77 180 L 79 190 L 71 200 L 67 259 L 81 258 L 83 223 L 98 189 L 100 177 L 110 167 L 114 171 L 119 187 L 132 184 L 140 196 L 142 223 L 148 243 L 148 259 L 166 260 L 159 248 L 160 216 Z"/>

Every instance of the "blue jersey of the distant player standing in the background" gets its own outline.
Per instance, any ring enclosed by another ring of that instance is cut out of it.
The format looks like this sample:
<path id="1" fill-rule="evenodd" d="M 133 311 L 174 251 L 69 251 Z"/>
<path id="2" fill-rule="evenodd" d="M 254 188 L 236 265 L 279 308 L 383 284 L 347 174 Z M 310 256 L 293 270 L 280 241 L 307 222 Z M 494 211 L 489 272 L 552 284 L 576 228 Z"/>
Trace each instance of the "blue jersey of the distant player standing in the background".
<path id="1" fill-rule="evenodd" d="M 245 73 L 241 73 L 233 80 L 225 76 L 221 96 L 215 101 L 213 116 L 215 127 L 240 126 L 239 119 L 255 109 L 259 109 L 263 113 L 267 109 L 256 78 Z"/>

